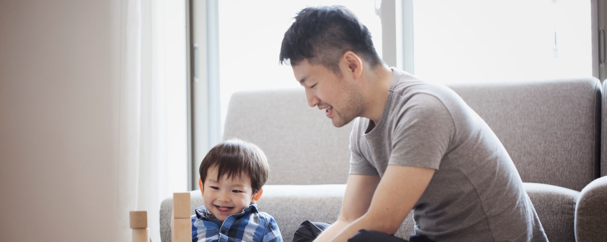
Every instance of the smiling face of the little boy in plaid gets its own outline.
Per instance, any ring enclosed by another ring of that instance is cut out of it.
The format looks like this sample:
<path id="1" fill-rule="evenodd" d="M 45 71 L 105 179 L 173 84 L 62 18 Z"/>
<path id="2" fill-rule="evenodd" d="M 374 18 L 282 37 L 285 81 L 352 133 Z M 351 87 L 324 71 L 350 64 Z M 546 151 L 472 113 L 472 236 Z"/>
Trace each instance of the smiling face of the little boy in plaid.
<path id="1" fill-rule="evenodd" d="M 240 214 L 256 200 L 253 199 L 251 178 L 248 175 L 241 174 L 230 178 L 228 175 L 223 175 L 217 181 L 217 172 L 217 166 L 209 168 L 200 189 L 205 207 L 211 213 L 211 217 L 224 221 L 229 215 Z"/>

